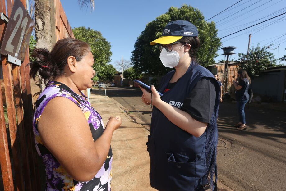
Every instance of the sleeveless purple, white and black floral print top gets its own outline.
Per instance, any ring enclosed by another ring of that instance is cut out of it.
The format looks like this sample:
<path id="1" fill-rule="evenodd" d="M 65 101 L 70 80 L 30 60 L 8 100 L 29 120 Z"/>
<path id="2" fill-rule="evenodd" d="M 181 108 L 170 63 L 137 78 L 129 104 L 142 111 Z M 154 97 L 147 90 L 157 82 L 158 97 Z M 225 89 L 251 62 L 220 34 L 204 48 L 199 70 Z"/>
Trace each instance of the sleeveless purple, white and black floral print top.
<path id="1" fill-rule="evenodd" d="M 95 109 L 86 101 L 87 97 L 82 93 L 78 95 L 68 88 L 65 84 L 60 82 L 48 82 L 44 91 L 39 95 L 35 103 L 35 112 L 33 118 L 33 131 L 35 135 L 36 150 L 40 157 L 43 159 L 46 170 L 47 191 L 55 190 L 89 190 L 89 191 L 110 191 L 111 184 L 111 163 L 112 163 L 112 150 L 110 147 L 108 156 L 97 172 L 95 177 L 88 182 L 78 182 L 74 180 L 64 170 L 62 165 L 57 161 L 53 154 L 44 146 L 39 136 L 37 124 L 41 117 L 47 103 L 57 97 L 61 96 L 74 102 L 81 108 L 85 115 L 86 121 L 90 126 L 90 131 L 94 140 L 98 139 L 104 131 L 104 124 L 101 116 Z M 64 109 L 64 108 L 63 108 Z"/>

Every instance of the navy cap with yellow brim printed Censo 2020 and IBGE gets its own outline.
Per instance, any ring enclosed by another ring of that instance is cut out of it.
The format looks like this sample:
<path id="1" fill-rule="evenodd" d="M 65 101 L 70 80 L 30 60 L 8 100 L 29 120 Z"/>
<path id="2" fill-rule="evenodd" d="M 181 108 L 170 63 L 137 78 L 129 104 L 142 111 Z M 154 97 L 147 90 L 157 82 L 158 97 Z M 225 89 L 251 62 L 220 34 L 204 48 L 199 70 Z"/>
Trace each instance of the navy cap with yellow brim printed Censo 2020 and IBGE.
<path id="1" fill-rule="evenodd" d="M 169 22 L 162 33 L 162 36 L 150 42 L 154 44 L 171 44 L 181 39 L 183 36 L 198 36 L 199 32 L 195 25 L 187 20 L 176 20 Z"/>

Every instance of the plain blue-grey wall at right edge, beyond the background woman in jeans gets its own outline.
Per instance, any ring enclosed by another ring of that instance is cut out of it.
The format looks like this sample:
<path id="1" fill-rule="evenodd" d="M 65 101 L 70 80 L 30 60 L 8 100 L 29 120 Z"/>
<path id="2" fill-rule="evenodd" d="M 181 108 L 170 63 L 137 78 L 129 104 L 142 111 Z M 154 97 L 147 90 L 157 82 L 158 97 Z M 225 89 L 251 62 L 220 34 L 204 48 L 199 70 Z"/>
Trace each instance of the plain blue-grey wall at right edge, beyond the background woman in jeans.
<path id="1" fill-rule="evenodd" d="M 286 70 L 261 72 L 252 80 L 253 93 L 269 96 L 274 102 L 283 101 Z"/>

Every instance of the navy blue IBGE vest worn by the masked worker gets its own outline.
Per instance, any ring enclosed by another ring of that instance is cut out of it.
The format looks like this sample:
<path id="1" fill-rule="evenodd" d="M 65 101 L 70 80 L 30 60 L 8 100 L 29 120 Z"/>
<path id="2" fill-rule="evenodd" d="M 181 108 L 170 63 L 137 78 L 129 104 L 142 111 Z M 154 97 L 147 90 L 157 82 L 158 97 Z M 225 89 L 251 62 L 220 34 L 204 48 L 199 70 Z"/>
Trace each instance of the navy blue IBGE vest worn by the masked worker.
<path id="1" fill-rule="evenodd" d="M 175 70 L 166 74 L 159 92 L 164 92 Z M 192 61 L 187 72 L 161 99 L 181 109 L 184 99 L 203 77 L 214 78 L 212 73 Z M 216 80 L 215 80 L 216 81 Z M 150 184 L 164 191 L 203 190 L 210 184 L 216 168 L 218 132 L 216 117 L 219 107 L 219 84 L 216 85 L 216 101 L 210 124 L 200 137 L 195 137 L 169 121 L 164 114 L 153 108 L 147 150 L 150 155 Z M 207 178 L 206 175 L 210 175 Z"/>

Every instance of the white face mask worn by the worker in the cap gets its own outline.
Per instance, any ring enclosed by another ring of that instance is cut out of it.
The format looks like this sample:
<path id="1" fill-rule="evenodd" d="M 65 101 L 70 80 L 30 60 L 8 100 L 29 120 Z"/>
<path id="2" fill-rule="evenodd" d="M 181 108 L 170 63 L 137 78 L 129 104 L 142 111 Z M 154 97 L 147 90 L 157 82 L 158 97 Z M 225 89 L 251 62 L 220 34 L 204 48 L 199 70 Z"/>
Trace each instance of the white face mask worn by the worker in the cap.
<path id="1" fill-rule="evenodd" d="M 186 44 L 184 44 L 183 46 L 185 46 Z M 182 47 L 183 47 L 182 46 Z M 182 48 L 181 47 L 181 48 Z M 180 49 L 180 48 L 179 48 Z M 179 50 L 178 49 L 178 50 Z M 186 54 L 187 52 L 185 52 L 185 54 Z M 183 54 L 183 56 L 185 55 L 185 54 Z M 182 57 L 183 57 L 182 56 Z M 180 57 L 180 55 L 179 55 L 179 53 L 177 52 L 177 51 L 175 51 L 175 50 L 172 50 L 171 52 L 168 52 L 167 50 L 166 50 L 166 48 L 163 48 L 163 50 L 161 51 L 161 53 L 160 53 L 160 60 L 161 60 L 161 62 L 163 63 L 163 65 L 165 66 L 165 67 L 168 67 L 168 68 L 174 68 L 174 67 L 176 67 L 177 65 L 178 65 L 178 63 L 179 63 L 179 60 L 180 60 L 180 58 L 182 58 L 182 57 Z"/>

